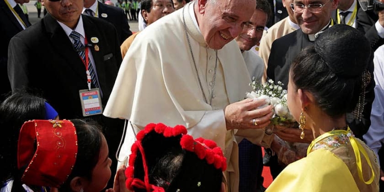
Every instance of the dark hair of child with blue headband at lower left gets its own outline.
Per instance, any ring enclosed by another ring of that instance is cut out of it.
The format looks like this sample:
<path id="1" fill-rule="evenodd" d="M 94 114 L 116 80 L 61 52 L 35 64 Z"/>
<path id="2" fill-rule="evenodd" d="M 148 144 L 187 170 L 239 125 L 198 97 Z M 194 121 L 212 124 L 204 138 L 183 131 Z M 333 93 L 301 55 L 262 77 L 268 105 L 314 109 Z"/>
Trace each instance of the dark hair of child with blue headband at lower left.
<path id="1" fill-rule="evenodd" d="M 17 141 L 25 121 L 44 119 L 46 100 L 37 94 L 19 90 L 0 104 L 0 127 L 7 134 L 0 136 L 0 185 L 13 179 L 11 191 L 24 191 L 17 167 Z M 23 172 L 24 173 L 24 172 Z"/>

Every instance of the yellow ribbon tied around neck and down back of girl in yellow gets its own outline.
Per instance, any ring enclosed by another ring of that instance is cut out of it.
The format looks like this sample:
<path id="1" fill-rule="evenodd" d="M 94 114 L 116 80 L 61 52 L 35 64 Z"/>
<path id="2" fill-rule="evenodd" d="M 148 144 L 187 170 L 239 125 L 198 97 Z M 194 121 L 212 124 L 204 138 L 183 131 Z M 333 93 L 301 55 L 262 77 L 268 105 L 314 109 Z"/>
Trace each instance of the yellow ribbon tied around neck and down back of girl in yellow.
<path id="1" fill-rule="evenodd" d="M 313 140 L 311 142 L 311 144 L 308 146 L 308 150 L 307 150 L 307 155 L 309 153 L 311 153 L 312 151 L 312 148 L 313 146 L 318 142 L 318 141 L 321 141 L 329 136 L 333 136 L 333 135 L 341 135 L 341 134 L 344 134 L 346 135 L 348 138 L 349 138 L 349 141 L 351 142 L 351 145 L 352 145 L 352 148 L 353 148 L 353 153 L 355 154 L 355 158 L 356 158 L 356 166 L 357 166 L 357 173 L 358 173 L 358 176 L 360 178 L 360 180 L 362 182 L 364 182 L 365 184 L 371 184 L 373 182 L 373 179 L 375 178 L 375 173 L 373 172 L 373 168 L 372 168 L 372 164 L 371 164 L 371 161 L 368 157 L 368 154 L 367 152 L 365 151 L 364 147 L 361 146 L 361 144 L 359 142 L 356 141 L 355 137 L 352 136 L 351 134 L 351 130 L 348 129 L 347 130 L 334 130 L 334 131 L 330 131 L 330 132 L 327 132 L 319 137 L 317 137 L 315 140 Z M 365 181 L 364 178 L 362 177 L 362 166 L 361 166 L 361 157 L 360 157 L 360 152 L 362 153 L 362 155 L 365 157 L 365 159 L 367 160 L 367 163 L 368 165 L 370 166 L 371 168 L 371 171 L 372 171 L 372 175 L 371 175 L 371 178 L 368 180 L 368 181 Z"/>

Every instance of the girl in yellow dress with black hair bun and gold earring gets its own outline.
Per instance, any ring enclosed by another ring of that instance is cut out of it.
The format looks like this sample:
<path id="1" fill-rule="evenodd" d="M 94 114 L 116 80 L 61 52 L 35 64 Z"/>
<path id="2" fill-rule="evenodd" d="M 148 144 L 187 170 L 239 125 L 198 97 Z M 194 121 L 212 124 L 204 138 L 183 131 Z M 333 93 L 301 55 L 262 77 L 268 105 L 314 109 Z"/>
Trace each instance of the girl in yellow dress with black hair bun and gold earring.
<path id="1" fill-rule="evenodd" d="M 307 157 L 289 164 L 267 191 L 378 191 L 379 165 L 354 137 L 346 113 L 361 118 L 365 88 L 373 78 L 368 40 L 347 25 L 325 30 L 293 61 L 288 108 L 300 129 L 315 138 Z M 301 135 L 305 137 L 304 132 Z"/>

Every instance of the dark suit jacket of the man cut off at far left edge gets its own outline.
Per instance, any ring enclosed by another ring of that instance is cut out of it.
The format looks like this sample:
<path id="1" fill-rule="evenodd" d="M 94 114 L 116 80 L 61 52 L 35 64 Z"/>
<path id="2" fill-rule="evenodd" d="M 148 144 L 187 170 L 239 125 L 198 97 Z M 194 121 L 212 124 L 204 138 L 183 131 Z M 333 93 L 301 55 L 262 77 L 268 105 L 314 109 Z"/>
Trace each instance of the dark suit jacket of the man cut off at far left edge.
<path id="1" fill-rule="evenodd" d="M 11 91 L 7 75 L 9 41 L 20 31 L 23 31 L 23 27 L 4 0 L 0 0 L 0 102 L 5 99 L 3 94 Z"/>

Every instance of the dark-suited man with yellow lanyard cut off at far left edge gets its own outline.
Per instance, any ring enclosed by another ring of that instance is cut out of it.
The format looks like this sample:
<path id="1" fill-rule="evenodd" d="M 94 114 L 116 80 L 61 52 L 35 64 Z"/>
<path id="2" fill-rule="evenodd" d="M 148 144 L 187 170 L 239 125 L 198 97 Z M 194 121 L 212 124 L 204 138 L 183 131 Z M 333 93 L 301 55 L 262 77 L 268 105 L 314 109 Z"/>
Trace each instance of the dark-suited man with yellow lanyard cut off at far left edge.
<path id="1" fill-rule="evenodd" d="M 28 3 L 29 0 L 0 1 L 0 103 L 11 91 L 7 75 L 8 45 L 18 32 L 31 26 L 22 8 L 17 4 Z"/>

